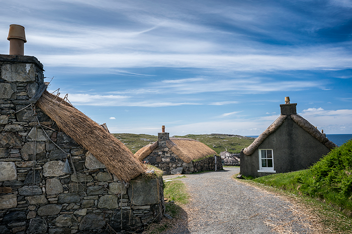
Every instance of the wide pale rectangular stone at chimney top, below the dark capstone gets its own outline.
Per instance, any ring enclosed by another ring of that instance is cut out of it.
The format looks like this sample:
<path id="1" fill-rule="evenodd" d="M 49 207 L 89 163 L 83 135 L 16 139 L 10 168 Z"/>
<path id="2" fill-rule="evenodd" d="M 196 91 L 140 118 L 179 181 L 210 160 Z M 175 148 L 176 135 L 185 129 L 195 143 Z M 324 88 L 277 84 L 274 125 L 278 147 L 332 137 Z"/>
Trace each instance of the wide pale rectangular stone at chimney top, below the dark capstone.
<path id="1" fill-rule="evenodd" d="M 36 68 L 34 64 L 4 64 L 1 78 L 9 82 L 35 81 Z"/>

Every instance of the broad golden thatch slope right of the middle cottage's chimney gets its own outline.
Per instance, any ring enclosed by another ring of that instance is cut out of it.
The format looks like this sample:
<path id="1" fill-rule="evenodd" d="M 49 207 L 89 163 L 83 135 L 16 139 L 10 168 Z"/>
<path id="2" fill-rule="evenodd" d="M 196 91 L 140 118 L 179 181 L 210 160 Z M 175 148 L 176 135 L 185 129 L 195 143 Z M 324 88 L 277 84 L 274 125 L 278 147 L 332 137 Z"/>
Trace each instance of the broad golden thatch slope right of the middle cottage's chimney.
<path id="1" fill-rule="evenodd" d="M 216 154 L 214 150 L 202 142 L 189 138 L 170 138 L 166 141 L 166 146 L 186 163 Z"/>

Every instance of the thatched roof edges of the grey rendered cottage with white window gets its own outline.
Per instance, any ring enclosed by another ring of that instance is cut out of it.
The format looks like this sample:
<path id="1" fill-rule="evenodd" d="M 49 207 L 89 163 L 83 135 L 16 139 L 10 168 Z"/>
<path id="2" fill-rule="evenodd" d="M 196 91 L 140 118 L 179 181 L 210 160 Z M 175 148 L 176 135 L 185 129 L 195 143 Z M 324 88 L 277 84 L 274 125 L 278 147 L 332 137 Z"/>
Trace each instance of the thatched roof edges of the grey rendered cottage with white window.
<path id="1" fill-rule="evenodd" d="M 297 114 L 290 115 L 291 119 L 303 128 L 306 132 L 315 137 L 324 144 L 328 149 L 337 147 L 332 141 L 329 141 L 324 134 L 320 133 L 311 123 Z M 286 120 L 287 115 L 280 115 L 265 131 L 263 131 L 247 148 L 243 150 L 245 155 L 251 155 L 256 148 L 273 132 L 275 132 Z"/>

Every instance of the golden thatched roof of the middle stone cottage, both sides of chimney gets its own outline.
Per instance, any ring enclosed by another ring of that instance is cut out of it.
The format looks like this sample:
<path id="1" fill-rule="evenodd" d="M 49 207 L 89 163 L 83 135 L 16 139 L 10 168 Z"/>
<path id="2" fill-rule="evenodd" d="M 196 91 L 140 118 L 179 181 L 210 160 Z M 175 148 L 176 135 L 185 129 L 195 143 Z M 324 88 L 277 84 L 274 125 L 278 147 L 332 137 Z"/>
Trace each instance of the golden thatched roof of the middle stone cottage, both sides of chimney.
<path id="1" fill-rule="evenodd" d="M 156 145 L 154 145 L 155 143 Z M 144 146 L 134 154 L 134 157 L 138 160 L 143 160 L 157 147 L 157 142 L 155 143 Z M 214 150 L 202 142 L 188 138 L 169 138 L 169 140 L 166 140 L 166 146 L 187 163 L 195 159 L 216 154 Z"/>

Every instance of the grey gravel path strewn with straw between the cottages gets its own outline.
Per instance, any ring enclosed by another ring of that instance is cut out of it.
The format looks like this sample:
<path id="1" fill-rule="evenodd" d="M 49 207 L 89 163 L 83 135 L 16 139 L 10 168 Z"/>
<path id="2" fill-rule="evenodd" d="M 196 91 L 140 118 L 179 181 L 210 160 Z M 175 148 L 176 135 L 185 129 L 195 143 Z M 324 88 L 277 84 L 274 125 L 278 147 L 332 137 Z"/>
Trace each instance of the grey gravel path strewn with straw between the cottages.
<path id="1" fill-rule="evenodd" d="M 233 180 L 239 168 L 187 175 L 187 216 L 170 233 L 319 233 L 315 217 L 288 199 Z"/>

